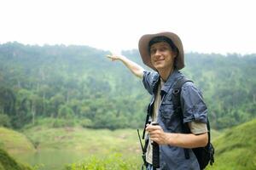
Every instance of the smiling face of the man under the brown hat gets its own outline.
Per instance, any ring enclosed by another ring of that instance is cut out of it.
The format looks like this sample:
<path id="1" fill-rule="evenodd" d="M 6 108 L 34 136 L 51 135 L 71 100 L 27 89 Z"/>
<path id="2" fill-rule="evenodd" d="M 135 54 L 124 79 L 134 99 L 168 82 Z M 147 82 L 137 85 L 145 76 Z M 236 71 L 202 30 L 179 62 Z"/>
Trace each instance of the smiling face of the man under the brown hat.
<path id="1" fill-rule="evenodd" d="M 157 42 L 150 47 L 151 63 L 158 71 L 171 70 L 176 54 L 167 42 Z"/>

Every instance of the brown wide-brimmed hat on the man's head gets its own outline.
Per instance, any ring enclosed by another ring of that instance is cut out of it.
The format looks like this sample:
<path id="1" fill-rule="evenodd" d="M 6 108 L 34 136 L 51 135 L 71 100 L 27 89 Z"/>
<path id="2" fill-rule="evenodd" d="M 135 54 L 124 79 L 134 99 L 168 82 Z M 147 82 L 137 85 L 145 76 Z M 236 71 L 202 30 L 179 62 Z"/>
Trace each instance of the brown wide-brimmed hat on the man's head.
<path id="1" fill-rule="evenodd" d="M 150 54 L 148 52 L 148 43 L 154 37 L 168 37 L 172 40 L 172 42 L 178 49 L 178 55 L 177 55 L 175 65 L 176 65 L 177 70 L 181 70 L 185 66 L 184 65 L 183 43 L 181 42 L 180 38 L 172 32 L 160 32 L 160 33 L 156 33 L 156 34 L 146 34 L 140 38 L 139 43 L 138 43 L 138 48 L 139 48 L 141 57 L 143 59 L 143 63 L 145 65 L 148 65 L 150 68 L 156 70 L 151 63 Z"/>

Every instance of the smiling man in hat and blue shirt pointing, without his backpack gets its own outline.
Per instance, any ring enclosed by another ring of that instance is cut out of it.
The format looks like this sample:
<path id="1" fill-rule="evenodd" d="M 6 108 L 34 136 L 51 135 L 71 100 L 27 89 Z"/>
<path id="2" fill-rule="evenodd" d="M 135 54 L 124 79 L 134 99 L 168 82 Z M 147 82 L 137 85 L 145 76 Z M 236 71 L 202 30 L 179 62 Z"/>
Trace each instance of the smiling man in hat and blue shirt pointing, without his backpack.
<path id="1" fill-rule="evenodd" d="M 200 169 L 191 149 L 207 145 L 207 106 L 193 82 L 185 82 L 181 89 L 182 121 L 173 109 L 173 86 L 184 77 L 178 71 L 184 67 L 180 38 L 172 32 L 147 34 L 140 38 L 138 48 L 143 63 L 154 71 L 145 71 L 125 56 L 108 55 L 108 58 L 122 61 L 134 75 L 143 79 L 144 87 L 152 95 L 150 118 L 159 126 L 148 124 L 146 127 L 149 136 L 147 169 L 153 169 L 152 141 L 160 144 L 161 170 Z M 189 126 L 190 133 L 183 133 L 183 123 Z M 189 149 L 189 159 L 184 156 L 184 149 Z"/>

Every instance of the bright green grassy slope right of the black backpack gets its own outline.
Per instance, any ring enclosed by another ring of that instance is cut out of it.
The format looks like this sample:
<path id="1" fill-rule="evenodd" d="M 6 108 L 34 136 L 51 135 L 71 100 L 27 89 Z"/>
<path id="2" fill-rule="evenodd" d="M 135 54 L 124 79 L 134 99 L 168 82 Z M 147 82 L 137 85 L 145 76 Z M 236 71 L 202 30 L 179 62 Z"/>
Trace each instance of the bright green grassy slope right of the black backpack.
<path id="1" fill-rule="evenodd" d="M 208 169 L 256 169 L 256 119 L 233 127 L 213 141 L 215 164 Z"/>

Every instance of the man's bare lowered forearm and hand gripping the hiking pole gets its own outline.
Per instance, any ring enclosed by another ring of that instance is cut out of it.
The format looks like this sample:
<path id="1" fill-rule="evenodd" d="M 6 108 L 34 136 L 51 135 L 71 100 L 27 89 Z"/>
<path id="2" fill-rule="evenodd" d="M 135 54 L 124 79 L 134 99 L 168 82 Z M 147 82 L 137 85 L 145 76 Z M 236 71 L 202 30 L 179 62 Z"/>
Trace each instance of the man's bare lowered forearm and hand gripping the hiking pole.
<path id="1" fill-rule="evenodd" d="M 208 133 L 165 133 L 160 126 L 148 125 L 150 139 L 158 144 L 170 144 L 182 148 L 204 147 L 208 143 Z"/>

